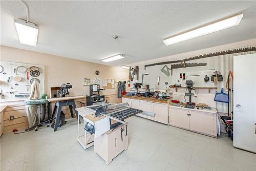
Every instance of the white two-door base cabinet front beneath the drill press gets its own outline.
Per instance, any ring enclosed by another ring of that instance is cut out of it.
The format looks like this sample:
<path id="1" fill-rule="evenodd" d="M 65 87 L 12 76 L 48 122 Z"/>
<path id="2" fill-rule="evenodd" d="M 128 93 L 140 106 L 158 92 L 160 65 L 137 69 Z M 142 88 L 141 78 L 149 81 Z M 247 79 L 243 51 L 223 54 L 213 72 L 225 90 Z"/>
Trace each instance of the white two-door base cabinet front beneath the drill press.
<path id="1" fill-rule="evenodd" d="M 205 112 L 169 106 L 169 124 L 217 137 L 217 112 Z"/>

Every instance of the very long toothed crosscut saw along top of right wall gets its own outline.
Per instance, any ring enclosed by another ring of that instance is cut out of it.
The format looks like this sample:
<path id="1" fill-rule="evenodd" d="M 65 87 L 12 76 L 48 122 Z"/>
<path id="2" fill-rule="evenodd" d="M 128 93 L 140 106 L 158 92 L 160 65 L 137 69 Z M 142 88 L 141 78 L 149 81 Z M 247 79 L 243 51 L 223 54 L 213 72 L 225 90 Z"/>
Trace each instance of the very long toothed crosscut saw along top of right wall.
<path id="1" fill-rule="evenodd" d="M 256 51 L 256 47 L 224 50 L 224 51 L 219 51 L 219 52 L 214 52 L 214 53 L 198 55 L 198 56 L 194 56 L 194 57 L 190 57 L 190 58 L 185 58 L 185 59 L 181 59 L 181 60 L 152 63 L 152 64 L 145 65 L 144 70 L 146 69 L 146 67 L 151 67 L 151 66 L 156 66 L 156 65 L 166 65 L 168 63 L 179 63 L 179 62 L 181 62 L 181 64 L 182 64 L 183 62 L 190 61 L 190 60 L 202 59 L 202 58 L 207 58 L 207 57 L 212 57 L 212 56 L 227 55 L 227 54 L 233 54 L 233 53 L 250 52 L 250 51 Z"/>

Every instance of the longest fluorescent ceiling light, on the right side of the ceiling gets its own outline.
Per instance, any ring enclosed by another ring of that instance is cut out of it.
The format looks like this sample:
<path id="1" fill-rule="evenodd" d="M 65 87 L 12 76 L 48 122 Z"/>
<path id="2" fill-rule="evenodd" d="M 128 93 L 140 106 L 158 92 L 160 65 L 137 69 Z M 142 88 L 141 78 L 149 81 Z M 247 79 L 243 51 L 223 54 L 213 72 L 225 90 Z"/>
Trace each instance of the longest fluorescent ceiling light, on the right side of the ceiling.
<path id="1" fill-rule="evenodd" d="M 239 25 L 242 18 L 243 18 L 243 14 L 233 15 L 231 17 L 218 20 L 216 22 L 212 22 L 210 24 L 187 31 L 185 33 L 181 33 L 176 36 L 166 38 L 163 40 L 163 42 L 165 45 L 172 45 L 172 44 L 176 44 L 177 42 L 189 40 L 191 38 L 203 36 L 205 34 L 213 33 L 213 32 L 227 29 L 233 26 L 237 26 Z"/>

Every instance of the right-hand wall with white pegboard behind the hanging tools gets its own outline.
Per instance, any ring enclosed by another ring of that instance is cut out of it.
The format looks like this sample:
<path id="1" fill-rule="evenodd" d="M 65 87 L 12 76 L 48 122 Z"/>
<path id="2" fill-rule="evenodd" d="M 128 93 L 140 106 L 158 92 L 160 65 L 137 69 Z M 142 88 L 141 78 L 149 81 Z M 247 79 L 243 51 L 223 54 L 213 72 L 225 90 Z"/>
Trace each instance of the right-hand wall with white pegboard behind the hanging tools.
<path id="1" fill-rule="evenodd" d="M 227 80 L 227 75 L 228 75 L 229 70 L 231 70 L 231 71 L 233 70 L 233 56 L 256 53 L 255 51 L 246 52 L 246 53 L 214 56 L 214 57 L 209 57 L 209 58 L 188 61 L 188 62 L 205 62 L 205 63 L 207 63 L 207 65 L 203 66 L 203 67 L 175 69 L 175 70 L 173 70 L 174 71 L 173 76 L 169 76 L 169 77 L 167 77 L 165 74 L 163 74 L 160 71 L 164 67 L 164 65 L 147 67 L 145 70 L 144 70 L 144 65 L 150 64 L 150 63 L 161 62 L 161 61 L 184 59 L 184 58 L 193 57 L 196 55 L 218 52 L 218 51 L 228 50 L 228 49 L 233 49 L 233 48 L 249 47 L 249 46 L 256 46 L 256 39 L 241 41 L 241 42 L 237 42 L 234 44 L 228 44 L 228 45 L 223 45 L 223 46 L 219 46 L 219 47 L 207 48 L 207 49 L 193 51 L 193 52 L 187 52 L 187 53 L 183 53 L 183 54 L 177 54 L 177 55 L 157 58 L 157 59 L 153 59 L 153 60 L 147 60 L 144 62 L 132 63 L 131 66 L 132 67 L 137 66 L 137 65 L 139 66 L 140 74 L 139 74 L 138 82 L 142 82 L 142 74 L 143 73 L 149 73 L 149 75 L 144 76 L 143 86 L 145 86 L 145 84 L 150 84 L 151 88 L 165 90 L 165 87 L 166 87 L 166 85 L 164 84 L 165 82 L 168 82 L 167 86 L 169 86 L 170 84 L 174 84 L 174 83 L 181 83 L 182 87 L 184 87 L 186 80 L 193 80 L 195 82 L 195 87 L 217 87 L 217 91 L 220 91 L 221 88 L 225 88 L 225 83 Z M 170 46 L 170 48 L 171 48 L 171 46 Z M 168 66 L 168 68 L 170 68 L 170 65 L 167 65 L 167 66 Z M 215 70 L 209 70 L 209 69 L 215 69 Z M 210 80 L 206 83 L 204 82 L 205 74 L 207 74 L 208 77 L 210 77 L 211 75 L 213 75 L 213 73 L 212 73 L 213 71 L 220 71 L 221 74 L 223 75 L 224 80 L 219 82 L 217 86 Z M 200 76 L 186 77 L 186 80 L 183 80 L 183 79 L 180 79 L 180 77 L 179 77 L 180 73 L 185 73 L 186 75 L 200 75 Z M 159 85 L 157 84 L 157 76 L 160 76 L 160 84 Z M 178 82 L 178 80 L 180 80 L 180 82 Z M 178 92 L 174 91 L 174 89 L 171 89 L 171 91 L 173 91 L 174 99 L 184 101 L 185 89 L 179 89 Z M 207 102 L 211 106 L 217 105 L 217 109 L 219 110 L 219 112 L 227 113 L 227 104 L 226 103 L 220 103 L 220 102 L 216 103 L 214 101 L 214 96 L 216 93 L 215 90 L 211 90 L 210 93 L 208 93 L 208 90 L 199 90 L 199 92 L 198 92 L 198 90 L 196 90 L 196 91 L 193 91 L 193 93 L 195 93 L 195 94 L 198 93 L 197 97 L 192 98 L 193 102 Z"/>

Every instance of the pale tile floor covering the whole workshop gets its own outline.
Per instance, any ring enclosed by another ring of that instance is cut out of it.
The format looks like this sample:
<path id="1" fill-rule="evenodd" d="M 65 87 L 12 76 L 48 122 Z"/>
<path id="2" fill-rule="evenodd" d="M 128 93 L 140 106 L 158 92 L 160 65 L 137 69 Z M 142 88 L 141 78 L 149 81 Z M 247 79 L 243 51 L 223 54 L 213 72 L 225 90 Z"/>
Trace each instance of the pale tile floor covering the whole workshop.
<path id="1" fill-rule="evenodd" d="M 80 146 L 69 119 L 56 132 L 4 134 L 1 170 L 256 170 L 256 154 L 233 148 L 224 134 L 215 139 L 136 116 L 127 121 L 129 148 L 109 165 L 93 147 Z"/>

